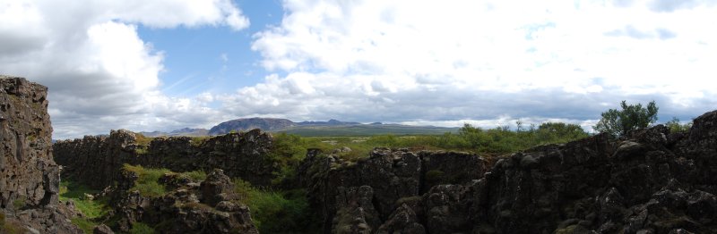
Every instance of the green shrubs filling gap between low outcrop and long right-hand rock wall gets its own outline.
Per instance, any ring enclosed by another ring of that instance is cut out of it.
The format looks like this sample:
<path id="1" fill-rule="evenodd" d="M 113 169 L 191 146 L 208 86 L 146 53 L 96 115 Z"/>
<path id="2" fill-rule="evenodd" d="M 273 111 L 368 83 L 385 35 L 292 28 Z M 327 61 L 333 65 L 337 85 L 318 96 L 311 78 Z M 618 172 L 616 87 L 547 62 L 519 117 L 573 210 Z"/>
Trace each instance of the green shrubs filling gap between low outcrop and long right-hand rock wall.
<path id="1" fill-rule="evenodd" d="M 234 179 L 241 203 L 249 206 L 252 220 L 260 233 L 315 233 L 320 221 L 309 213 L 306 191 L 272 191 L 253 188 L 241 179 Z"/>

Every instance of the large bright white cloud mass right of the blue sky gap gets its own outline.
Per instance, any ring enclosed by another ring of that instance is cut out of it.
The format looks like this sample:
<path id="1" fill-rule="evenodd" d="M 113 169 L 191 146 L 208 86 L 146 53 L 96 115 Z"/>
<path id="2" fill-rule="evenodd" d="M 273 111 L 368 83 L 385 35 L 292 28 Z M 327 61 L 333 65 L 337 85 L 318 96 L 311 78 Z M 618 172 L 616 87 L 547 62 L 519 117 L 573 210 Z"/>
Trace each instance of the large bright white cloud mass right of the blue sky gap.
<path id="1" fill-rule="evenodd" d="M 656 13 L 657 2 L 288 0 L 281 25 L 252 46 L 287 75 L 223 103 L 245 115 L 437 125 L 587 126 L 620 100 L 657 100 L 666 116 L 709 111 L 717 55 L 705 51 L 717 38 L 701 22 L 714 9 Z"/>

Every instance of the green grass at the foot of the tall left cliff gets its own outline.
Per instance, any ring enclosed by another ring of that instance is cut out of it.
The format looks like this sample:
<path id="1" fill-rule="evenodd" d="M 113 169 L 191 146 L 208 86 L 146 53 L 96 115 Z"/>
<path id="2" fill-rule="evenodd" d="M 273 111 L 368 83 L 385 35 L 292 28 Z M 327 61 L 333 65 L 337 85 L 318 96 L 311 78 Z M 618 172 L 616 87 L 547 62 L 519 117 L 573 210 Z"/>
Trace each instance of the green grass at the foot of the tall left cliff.
<path id="1" fill-rule="evenodd" d="M 99 191 L 72 180 L 62 180 L 60 182 L 60 201 L 73 200 L 77 210 L 84 214 L 84 217 L 72 219 L 72 223 L 84 230 L 85 233 L 92 233 L 92 229 L 99 224 L 98 220 L 107 215 L 111 209 L 108 206 L 108 198 L 94 200 L 86 198 L 86 195 L 92 195 L 97 192 Z"/>

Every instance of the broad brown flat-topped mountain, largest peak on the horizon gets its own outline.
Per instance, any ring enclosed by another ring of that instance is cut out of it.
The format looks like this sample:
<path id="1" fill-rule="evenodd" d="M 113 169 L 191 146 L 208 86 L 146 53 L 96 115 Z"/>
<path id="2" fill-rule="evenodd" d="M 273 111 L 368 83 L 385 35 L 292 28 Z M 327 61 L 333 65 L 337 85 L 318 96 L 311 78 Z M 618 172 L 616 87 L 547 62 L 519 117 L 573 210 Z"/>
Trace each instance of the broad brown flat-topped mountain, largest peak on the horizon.
<path id="1" fill-rule="evenodd" d="M 231 131 L 247 131 L 260 129 L 264 131 L 283 130 L 294 126 L 293 121 L 274 118 L 247 118 L 225 121 L 209 130 L 209 135 L 222 135 Z"/>

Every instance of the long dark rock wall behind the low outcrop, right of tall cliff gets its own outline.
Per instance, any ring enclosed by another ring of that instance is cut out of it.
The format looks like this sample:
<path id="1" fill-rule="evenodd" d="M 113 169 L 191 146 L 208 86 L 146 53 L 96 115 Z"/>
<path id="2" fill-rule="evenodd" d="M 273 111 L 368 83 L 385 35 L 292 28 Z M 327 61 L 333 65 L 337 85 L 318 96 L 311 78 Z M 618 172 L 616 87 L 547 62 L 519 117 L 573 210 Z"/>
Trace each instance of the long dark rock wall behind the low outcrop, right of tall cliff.
<path id="1" fill-rule="evenodd" d="M 212 171 L 215 168 L 256 186 L 274 178 L 274 162 L 268 154 L 272 136 L 260 130 L 230 133 L 200 140 L 188 137 L 154 138 L 149 146 L 137 143 L 134 132 L 112 130 L 109 136 L 58 141 L 57 163 L 65 174 L 93 188 L 105 188 L 117 180 L 124 163 L 170 171 Z"/>

